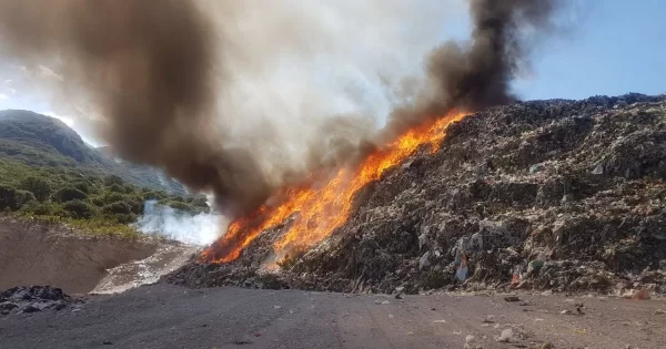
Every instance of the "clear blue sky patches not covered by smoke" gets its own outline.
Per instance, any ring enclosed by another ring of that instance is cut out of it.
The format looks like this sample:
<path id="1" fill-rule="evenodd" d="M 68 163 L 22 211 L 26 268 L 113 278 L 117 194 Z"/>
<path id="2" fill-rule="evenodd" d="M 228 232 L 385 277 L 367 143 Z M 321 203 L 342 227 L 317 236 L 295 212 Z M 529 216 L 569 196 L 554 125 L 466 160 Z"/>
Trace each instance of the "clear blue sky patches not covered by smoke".
<path id="1" fill-rule="evenodd" d="M 575 27 L 534 52 L 533 74 L 514 84 L 523 100 L 666 92 L 666 1 L 569 1 L 579 10 Z M 464 17 L 445 24 L 442 40 L 464 39 L 468 30 Z M 0 110 L 53 110 L 43 95 L 17 85 L 18 65 L 0 64 Z"/>

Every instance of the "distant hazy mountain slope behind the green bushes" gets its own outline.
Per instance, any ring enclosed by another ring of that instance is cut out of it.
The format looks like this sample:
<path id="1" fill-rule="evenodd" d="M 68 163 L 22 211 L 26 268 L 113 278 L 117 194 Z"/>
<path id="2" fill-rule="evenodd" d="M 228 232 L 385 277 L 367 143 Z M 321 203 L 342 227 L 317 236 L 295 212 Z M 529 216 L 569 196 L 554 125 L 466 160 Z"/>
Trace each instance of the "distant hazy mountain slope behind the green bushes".
<path id="1" fill-rule="evenodd" d="M 160 171 L 118 162 L 107 150 L 94 148 L 60 120 L 29 111 L 0 111 L 0 158 L 29 166 L 68 167 L 114 174 L 140 187 L 184 194 L 184 188 Z"/>

